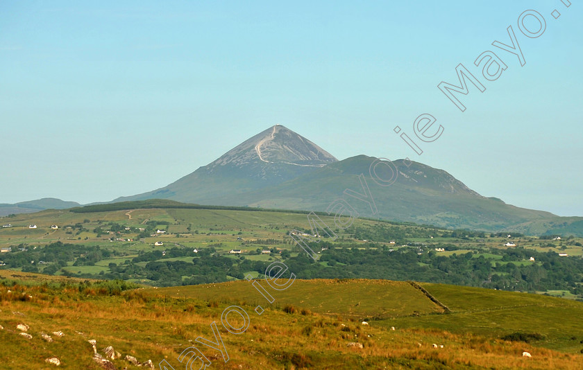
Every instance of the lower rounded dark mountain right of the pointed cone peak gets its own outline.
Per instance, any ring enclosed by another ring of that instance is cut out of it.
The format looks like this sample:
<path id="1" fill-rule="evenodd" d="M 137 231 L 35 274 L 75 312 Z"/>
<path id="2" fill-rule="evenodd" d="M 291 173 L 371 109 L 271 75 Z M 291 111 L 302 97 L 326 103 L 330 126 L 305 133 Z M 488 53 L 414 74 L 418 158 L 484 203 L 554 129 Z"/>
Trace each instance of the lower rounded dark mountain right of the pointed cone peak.
<path id="1" fill-rule="evenodd" d="M 394 161 L 399 171 L 396 181 L 390 186 L 380 186 L 369 173 L 373 161 L 374 157 L 359 155 L 260 192 L 209 201 L 212 204 L 326 211 L 331 202 L 342 197 L 363 217 L 491 231 L 558 218 L 552 213 L 522 209 L 496 198 L 483 197 L 446 171 L 416 162 L 407 167 L 403 160 Z M 366 202 L 343 193 L 346 188 L 364 193 L 358 179 L 361 173 L 371 191 L 371 204 L 377 214 L 373 214 Z M 528 229 L 527 225 L 523 229 Z"/>

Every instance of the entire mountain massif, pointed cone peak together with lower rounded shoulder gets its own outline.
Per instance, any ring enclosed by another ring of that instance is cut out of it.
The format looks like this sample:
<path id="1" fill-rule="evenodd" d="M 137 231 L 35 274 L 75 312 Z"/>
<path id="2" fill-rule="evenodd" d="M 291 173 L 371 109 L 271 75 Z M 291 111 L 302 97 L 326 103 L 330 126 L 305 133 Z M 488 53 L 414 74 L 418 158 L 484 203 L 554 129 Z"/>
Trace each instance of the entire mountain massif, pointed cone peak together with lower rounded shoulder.
<path id="1" fill-rule="evenodd" d="M 158 190 L 114 202 L 167 199 L 221 206 L 326 211 L 346 200 L 362 217 L 433 224 L 439 227 L 525 234 L 583 234 L 583 218 L 561 218 L 483 197 L 445 170 L 403 160 L 390 186 L 377 184 L 369 167 L 374 157 L 338 161 L 316 144 L 282 125 L 260 132 L 216 161 Z M 364 193 L 364 175 L 373 206 L 344 191 Z"/>

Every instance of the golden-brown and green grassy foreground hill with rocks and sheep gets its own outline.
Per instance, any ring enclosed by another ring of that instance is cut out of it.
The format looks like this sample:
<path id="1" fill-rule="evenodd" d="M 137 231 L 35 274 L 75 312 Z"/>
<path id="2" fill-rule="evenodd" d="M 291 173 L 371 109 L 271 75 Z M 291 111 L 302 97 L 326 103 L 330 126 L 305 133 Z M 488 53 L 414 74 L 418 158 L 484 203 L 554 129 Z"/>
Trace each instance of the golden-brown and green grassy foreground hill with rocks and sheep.
<path id="1" fill-rule="evenodd" d="M 156 369 L 162 360 L 166 369 L 182 369 L 190 356 L 183 363 L 178 356 L 192 345 L 212 362 L 207 369 L 583 365 L 583 303 L 565 299 L 451 285 L 424 284 L 425 294 L 405 282 L 296 280 L 285 291 L 270 290 L 276 301 L 269 304 L 246 281 L 121 292 L 115 282 L 62 283 L 66 278 L 58 277 L 41 283 L 30 276 L 35 275 L 2 272 L 1 369 L 54 369 L 45 362 L 53 357 L 63 369 L 103 369 L 92 360 L 89 340 L 103 356 L 106 346 L 119 352 L 121 358 L 110 360 L 116 369 L 138 369 L 126 355 L 152 360 Z M 441 313 L 436 301 L 451 312 Z M 257 304 L 264 308 L 261 315 L 254 312 Z M 221 313 L 233 305 L 248 312 L 248 322 L 237 313 L 227 315 L 231 328 L 248 325 L 238 334 L 221 324 Z M 198 336 L 214 342 L 213 321 L 228 362 L 220 351 L 195 342 Z M 20 335 L 19 324 L 28 326 L 31 339 Z M 64 335 L 53 334 L 58 331 Z M 53 341 L 44 340 L 43 333 Z M 524 358 L 523 351 L 532 358 Z"/>

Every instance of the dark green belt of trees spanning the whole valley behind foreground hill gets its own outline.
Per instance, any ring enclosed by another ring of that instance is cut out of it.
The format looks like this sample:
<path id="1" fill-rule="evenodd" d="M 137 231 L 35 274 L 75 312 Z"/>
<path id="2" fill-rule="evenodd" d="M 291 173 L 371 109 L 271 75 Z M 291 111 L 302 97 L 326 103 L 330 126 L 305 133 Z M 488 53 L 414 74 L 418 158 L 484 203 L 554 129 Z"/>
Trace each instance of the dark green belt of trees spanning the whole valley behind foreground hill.
<path id="1" fill-rule="evenodd" d="M 442 244 L 446 250 L 455 245 Z M 155 285 L 189 285 L 214 283 L 228 279 L 244 279 L 244 274 L 264 272 L 269 262 L 250 261 L 217 254 L 217 245 L 210 245 L 195 253 L 192 248 L 172 247 L 165 251 L 141 252 L 139 256 L 117 265 L 109 264 L 109 272 L 99 276 L 72 274 L 98 279 L 149 279 Z M 455 285 L 470 285 L 500 290 L 544 291 L 568 290 L 583 297 L 583 258 L 559 257 L 555 252 L 536 252 L 514 247 L 489 249 L 443 256 L 434 250 L 423 250 L 422 245 L 392 250 L 378 243 L 330 243 L 321 240 L 312 243 L 321 251 L 319 261 L 301 252 L 291 257 L 285 250 L 280 255 L 299 279 L 390 279 L 415 280 Z M 299 247 L 295 247 L 301 251 Z M 67 262 L 74 266 L 94 265 L 104 258 L 117 255 L 99 246 L 52 243 L 45 247 L 26 248 L 3 255 L 7 268 L 22 268 L 25 272 L 56 274 Z M 275 249 L 273 249 L 275 252 Z M 257 249 L 260 253 L 260 249 Z M 185 257 L 183 261 L 164 261 Z M 534 262 L 530 261 L 534 257 Z M 192 259 L 191 259 L 192 258 Z M 41 261 L 44 263 L 41 264 Z M 147 262 L 145 266 L 138 263 Z"/>

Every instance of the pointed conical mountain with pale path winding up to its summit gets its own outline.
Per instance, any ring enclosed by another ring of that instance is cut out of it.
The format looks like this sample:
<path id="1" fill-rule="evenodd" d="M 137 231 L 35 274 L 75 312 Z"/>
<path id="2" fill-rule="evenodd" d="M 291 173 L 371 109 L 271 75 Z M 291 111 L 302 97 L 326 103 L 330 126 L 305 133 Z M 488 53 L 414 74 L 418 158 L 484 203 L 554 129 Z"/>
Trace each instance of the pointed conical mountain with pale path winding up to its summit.
<path id="1" fill-rule="evenodd" d="M 159 198 L 210 204 L 210 200 L 275 186 L 336 161 L 312 141 L 275 125 L 168 186 L 114 202 Z"/>

